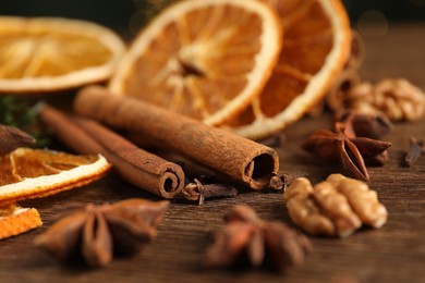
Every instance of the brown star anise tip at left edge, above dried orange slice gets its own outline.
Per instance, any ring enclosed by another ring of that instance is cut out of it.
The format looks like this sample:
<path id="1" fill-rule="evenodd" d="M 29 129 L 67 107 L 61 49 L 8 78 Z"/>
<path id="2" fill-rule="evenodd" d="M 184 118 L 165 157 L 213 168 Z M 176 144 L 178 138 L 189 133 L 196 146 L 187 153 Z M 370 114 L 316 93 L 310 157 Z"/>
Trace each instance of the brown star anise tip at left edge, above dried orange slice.
<path id="1" fill-rule="evenodd" d="M 35 144 L 35 138 L 14 126 L 0 124 L 0 155 L 12 152 L 19 147 Z"/>

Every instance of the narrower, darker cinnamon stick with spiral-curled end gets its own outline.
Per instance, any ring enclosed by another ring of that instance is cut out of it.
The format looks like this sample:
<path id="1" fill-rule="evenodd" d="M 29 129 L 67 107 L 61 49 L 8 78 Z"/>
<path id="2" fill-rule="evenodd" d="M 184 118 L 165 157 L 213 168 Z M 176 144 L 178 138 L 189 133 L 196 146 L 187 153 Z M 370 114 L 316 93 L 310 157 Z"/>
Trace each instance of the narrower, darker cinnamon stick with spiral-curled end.
<path id="1" fill-rule="evenodd" d="M 50 106 L 39 112 L 56 136 L 80 153 L 101 153 L 129 183 L 163 198 L 172 198 L 184 186 L 180 165 L 151 155 L 99 123 L 66 115 Z"/>

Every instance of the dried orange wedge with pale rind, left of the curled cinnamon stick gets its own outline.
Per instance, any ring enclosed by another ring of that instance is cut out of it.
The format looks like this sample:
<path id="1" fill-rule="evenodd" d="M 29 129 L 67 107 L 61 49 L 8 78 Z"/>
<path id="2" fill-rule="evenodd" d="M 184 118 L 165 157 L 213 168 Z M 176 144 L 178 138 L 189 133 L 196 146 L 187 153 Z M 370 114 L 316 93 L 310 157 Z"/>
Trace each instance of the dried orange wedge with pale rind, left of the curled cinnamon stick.
<path id="1" fill-rule="evenodd" d="M 101 177 L 110 164 L 102 156 L 74 156 L 17 148 L 0 156 L 0 205 L 45 197 Z"/>

